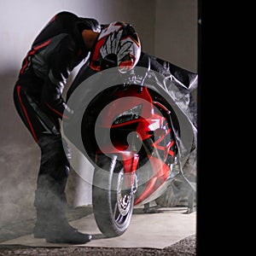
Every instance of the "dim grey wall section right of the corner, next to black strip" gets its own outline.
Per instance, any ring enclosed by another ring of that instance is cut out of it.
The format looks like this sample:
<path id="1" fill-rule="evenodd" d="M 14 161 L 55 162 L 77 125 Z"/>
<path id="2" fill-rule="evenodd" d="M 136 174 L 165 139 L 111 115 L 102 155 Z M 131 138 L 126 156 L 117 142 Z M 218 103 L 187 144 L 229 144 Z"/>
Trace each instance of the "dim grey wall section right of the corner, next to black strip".
<path id="1" fill-rule="evenodd" d="M 197 0 L 156 0 L 154 53 L 197 73 Z"/>

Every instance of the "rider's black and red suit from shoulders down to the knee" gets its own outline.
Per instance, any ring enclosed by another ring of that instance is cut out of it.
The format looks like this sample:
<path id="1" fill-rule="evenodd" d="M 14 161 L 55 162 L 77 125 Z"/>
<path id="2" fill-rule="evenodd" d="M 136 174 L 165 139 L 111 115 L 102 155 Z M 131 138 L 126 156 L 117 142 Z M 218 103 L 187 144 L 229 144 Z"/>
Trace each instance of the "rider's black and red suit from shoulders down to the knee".
<path id="1" fill-rule="evenodd" d="M 84 29 L 99 32 L 100 25 L 94 19 L 69 12 L 55 15 L 34 40 L 22 63 L 15 85 L 15 106 L 36 142 L 42 133 L 56 133 L 50 121 L 58 125 L 58 118 L 67 119 L 64 109 L 73 113 L 61 94 L 73 68 L 89 54 L 84 48 Z"/>

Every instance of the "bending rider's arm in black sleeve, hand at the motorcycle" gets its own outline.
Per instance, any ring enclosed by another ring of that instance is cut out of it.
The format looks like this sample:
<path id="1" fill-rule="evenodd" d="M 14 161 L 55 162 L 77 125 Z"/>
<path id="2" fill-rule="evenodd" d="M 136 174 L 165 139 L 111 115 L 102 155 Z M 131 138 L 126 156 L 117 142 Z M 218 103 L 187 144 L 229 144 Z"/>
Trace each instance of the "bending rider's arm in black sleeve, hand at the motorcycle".
<path id="1" fill-rule="evenodd" d="M 73 55 L 76 49 L 73 39 L 63 38 L 49 58 L 49 73 L 44 81 L 41 102 L 44 108 L 60 119 L 68 119 L 73 110 L 68 108 L 61 94 L 72 71 Z M 67 115 L 64 115 L 66 110 Z"/>

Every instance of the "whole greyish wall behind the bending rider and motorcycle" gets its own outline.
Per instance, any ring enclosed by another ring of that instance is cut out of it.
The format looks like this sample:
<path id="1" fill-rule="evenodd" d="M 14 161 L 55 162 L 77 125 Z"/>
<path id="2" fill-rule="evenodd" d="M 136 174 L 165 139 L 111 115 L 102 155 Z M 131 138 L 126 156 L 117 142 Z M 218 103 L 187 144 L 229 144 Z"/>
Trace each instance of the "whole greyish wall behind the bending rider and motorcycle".
<path id="1" fill-rule="evenodd" d="M 101 23 L 131 22 L 140 34 L 144 51 L 196 70 L 195 0 L 0 0 L 0 225 L 33 218 L 35 214 L 32 203 L 40 151 L 15 111 L 12 93 L 21 61 L 32 40 L 61 10 L 94 17 Z M 175 15 L 177 18 L 174 19 Z M 189 31 L 191 22 L 193 30 Z M 170 27 L 175 29 L 170 30 Z M 186 30 L 187 37 L 179 34 L 178 27 L 181 31 Z M 176 41 L 172 35 L 177 36 Z M 179 44 L 180 41 L 183 42 Z M 168 47 L 170 44 L 172 48 Z M 74 70 L 73 76 L 78 69 Z M 77 172 L 89 171 L 85 176 L 84 172 L 79 175 L 90 181 L 90 166 L 86 165 L 84 157 L 74 153 L 73 161 Z M 73 206 L 90 204 L 90 184 L 79 175 L 71 172 L 67 185 L 68 201 Z"/>

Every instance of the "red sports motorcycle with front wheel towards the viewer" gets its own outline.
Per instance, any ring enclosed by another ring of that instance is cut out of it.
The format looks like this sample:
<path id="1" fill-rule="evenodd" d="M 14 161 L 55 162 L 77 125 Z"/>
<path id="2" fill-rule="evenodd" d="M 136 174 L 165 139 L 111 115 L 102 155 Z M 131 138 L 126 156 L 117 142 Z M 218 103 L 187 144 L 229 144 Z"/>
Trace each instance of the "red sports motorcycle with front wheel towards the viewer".
<path id="1" fill-rule="evenodd" d="M 67 122 L 67 127 L 79 127 L 67 131 L 67 137 L 95 166 L 92 206 L 96 224 L 102 234 L 114 237 L 128 229 L 135 206 L 159 199 L 177 176 L 186 179 L 185 160 L 180 156 L 189 155 L 191 123 L 183 111 L 181 118 L 177 116 L 176 103 L 166 100 L 164 90 L 158 92 L 147 82 L 108 86 L 112 82 L 101 76 L 98 73 L 91 82 L 86 79 L 87 84 L 72 93 L 68 104 L 73 109 L 78 106 L 74 119 L 81 123 Z M 90 93 L 92 100 L 84 99 Z M 77 134 L 83 145 L 79 146 L 79 140 L 76 143 Z M 184 139 L 188 145 L 181 147 L 181 137 L 189 137 Z"/>

